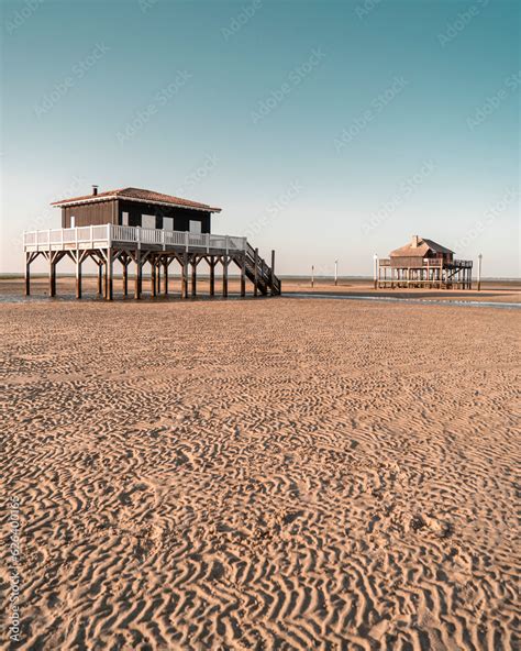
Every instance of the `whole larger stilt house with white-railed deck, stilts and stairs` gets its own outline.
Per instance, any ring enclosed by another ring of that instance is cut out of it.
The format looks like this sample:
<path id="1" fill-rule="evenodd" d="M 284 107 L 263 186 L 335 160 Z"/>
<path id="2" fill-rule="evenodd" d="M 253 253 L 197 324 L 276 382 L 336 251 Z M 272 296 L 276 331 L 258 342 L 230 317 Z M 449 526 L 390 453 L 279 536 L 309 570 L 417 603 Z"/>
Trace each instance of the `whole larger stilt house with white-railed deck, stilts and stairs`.
<path id="1" fill-rule="evenodd" d="M 26 295 L 31 291 L 31 264 L 40 255 L 48 262 L 51 296 L 56 295 L 56 266 L 66 257 L 76 265 L 77 298 L 81 298 L 81 267 L 87 260 L 98 266 L 98 294 L 108 300 L 113 297 L 117 262 L 122 265 L 125 296 L 129 266 L 134 266 L 134 298 L 142 296 L 143 268 L 147 263 L 152 296 L 169 294 L 171 263 L 180 267 L 181 297 L 197 296 L 197 268 L 202 261 L 209 268 L 210 296 L 215 294 L 218 265 L 222 266 L 222 295 L 228 296 L 231 263 L 240 269 L 241 296 L 246 294 L 246 279 L 253 283 L 255 296 L 280 294 L 280 280 L 274 269 L 275 252 L 268 266 L 246 238 L 211 232 L 211 216 L 220 208 L 138 188 L 98 192 L 97 186 L 92 186 L 91 195 L 52 206 L 62 209 L 62 228 L 23 235 Z"/>

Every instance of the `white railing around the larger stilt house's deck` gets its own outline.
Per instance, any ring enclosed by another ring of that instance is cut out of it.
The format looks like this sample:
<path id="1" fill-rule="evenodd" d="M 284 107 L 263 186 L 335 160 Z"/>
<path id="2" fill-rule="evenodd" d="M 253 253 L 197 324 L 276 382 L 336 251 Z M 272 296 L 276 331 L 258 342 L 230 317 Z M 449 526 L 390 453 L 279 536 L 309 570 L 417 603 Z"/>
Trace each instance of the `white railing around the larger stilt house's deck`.
<path id="1" fill-rule="evenodd" d="M 142 229 L 140 227 L 120 227 L 114 224 L 76 227 L 74 229 L 49 229 L 23 233 L 24 250 L 59 250 L 80 246 L 112 246 L 114 243 L 154 245 L 166 249 L 197 249 L 211 252 L 245 251 L 246 238 L 235 235 L 214 235 L 213 233 L 190 233 L 189 231 L 166 231 L 162 229 Z"/>

